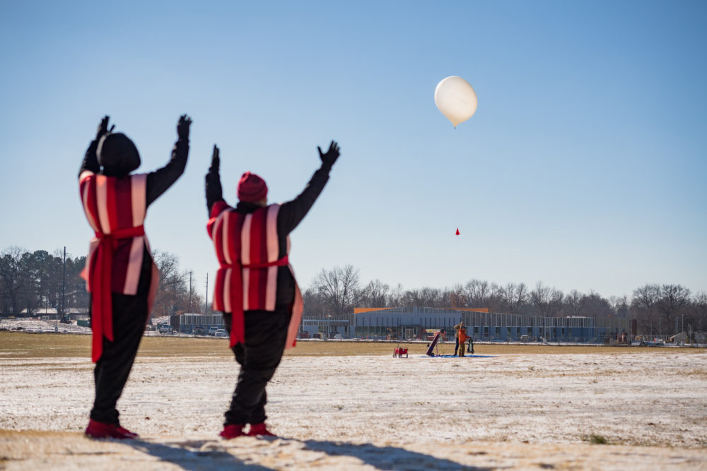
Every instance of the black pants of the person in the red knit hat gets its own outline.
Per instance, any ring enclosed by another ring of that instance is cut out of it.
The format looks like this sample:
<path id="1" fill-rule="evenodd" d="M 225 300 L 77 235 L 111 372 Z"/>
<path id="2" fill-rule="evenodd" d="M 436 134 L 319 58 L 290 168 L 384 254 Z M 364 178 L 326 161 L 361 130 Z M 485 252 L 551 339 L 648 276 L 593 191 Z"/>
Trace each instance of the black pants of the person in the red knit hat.
<path id="1" fill-rule="evenodd" d="M 240 373 L 224 425 L 265 422 L 265 386 L 282 359 L 290 316 L 289 309 L 245 311 L 245 345 L 238 343 L 232 349 Z M 230 313 L 223 313 L 223 321 L 230 334 Z"/>

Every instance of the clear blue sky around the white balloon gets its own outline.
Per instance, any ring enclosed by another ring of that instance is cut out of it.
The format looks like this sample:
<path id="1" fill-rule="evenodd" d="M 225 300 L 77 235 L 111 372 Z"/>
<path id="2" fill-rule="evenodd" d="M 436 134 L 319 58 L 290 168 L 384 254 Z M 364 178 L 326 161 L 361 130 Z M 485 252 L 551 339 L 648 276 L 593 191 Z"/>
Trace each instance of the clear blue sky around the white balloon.
<path id="1" fill-rule="evenodd" d="M 214 143 L 229 203 L 245 170 L 287 201 L 333 138 L 291 234 L 303 287 L 351 263 L 404 289 L 707 288 L 704 2 L 59 3 L 0 4 L 0 249 L 85 254 L 76 172 L 100 118 L 146 172 L 187 113 L 186 172 L 146 230 L 200 284 Z M 433 100 L 452 75 L 479 97 L 457 129 Z"/>

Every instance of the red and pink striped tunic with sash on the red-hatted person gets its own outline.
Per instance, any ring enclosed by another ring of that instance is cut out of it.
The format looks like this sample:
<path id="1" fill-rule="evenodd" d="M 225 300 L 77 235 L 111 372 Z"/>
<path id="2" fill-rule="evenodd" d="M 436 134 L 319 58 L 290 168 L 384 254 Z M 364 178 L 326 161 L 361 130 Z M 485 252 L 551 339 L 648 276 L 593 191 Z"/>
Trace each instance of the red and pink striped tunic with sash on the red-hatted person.
<path id="1" fill-rule="evenodd" d="M 290 250 L 290 239 L 287 237 L 287 253 L 280 258 L 277 234 L 279 210 L 280 205 L 273 204 L 243 214 L 223 201 L 218 201 L 211 208 L 211 219 L 206 229 L 214 242 L 219 263 L 212 306 L 216 311 L 233 314 L 231 346 L 245 339 L 243 311 L 275 310 L 277 272 L 279 267 L 289 266 Z M 289 268 L 292 270 L 291 266 Z M 286 347 L 294 345 L 302 313 L 302 297 L 299 287 L 295 285 L 295 303 Z"/>

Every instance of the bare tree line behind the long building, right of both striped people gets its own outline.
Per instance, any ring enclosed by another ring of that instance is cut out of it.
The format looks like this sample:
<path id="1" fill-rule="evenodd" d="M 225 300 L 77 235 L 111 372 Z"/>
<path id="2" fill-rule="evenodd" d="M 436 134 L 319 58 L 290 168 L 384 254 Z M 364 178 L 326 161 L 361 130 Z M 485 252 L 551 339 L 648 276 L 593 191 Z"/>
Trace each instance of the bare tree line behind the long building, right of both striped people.
<path id="1" fill-rule="evenodd" d="M 529 287 L 476 279 L 451 287 L 404 290 L 380 280 L 364 284 L 358 268 L 346 265 L 322 269 L 303 297 L 308 317 L 351 314 L 354 307 L 486 307 L 489 312 L 545 317 L 635 318 L 638 332 L 650 335 L 707 332 L 707 294 L 691 294 L 682 285 L 647 284 L 633 290 L 631 297 L 608 298 L 596 292 L 564 293 L 542 282 Z"/>

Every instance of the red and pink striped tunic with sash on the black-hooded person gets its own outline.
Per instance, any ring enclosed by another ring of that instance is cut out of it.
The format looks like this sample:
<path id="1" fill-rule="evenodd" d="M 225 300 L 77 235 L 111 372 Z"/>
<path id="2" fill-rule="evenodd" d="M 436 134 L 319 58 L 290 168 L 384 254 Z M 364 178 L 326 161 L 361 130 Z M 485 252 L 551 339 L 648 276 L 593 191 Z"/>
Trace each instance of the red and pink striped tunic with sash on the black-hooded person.
<path id="1" fill-rule="evenodd" d="M 103 351 L 103 337 L 113 340 L 110 293 L 137 294 L 144 249 L 149 244 L 143 223 L 147 203 L 147 174 L 106 177 L 90 171 L 78 178 L 88 224 L 95 231 L 81 276 L 92 296 L 93 361 Z M 158 282 L 153 263 L 148 309 Z"/>

